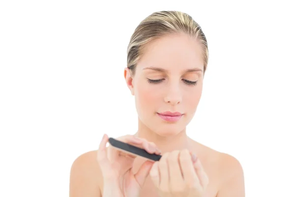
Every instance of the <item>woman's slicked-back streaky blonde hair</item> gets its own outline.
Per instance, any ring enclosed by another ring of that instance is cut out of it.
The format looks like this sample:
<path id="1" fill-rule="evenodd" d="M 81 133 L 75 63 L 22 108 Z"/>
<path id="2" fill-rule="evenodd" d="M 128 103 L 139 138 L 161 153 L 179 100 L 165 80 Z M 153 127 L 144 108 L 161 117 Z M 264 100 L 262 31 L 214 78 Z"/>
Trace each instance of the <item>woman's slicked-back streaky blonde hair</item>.
<path id="1" fill-rule="evenodd" d="M 148 42 L 169 33 L 187 33 L 201 44 L 205 74 L 209 53 L 207 39 L 200 25 L 186 13 L 180 11 L 159 11 L 145 18 L 137 26 L 130 38 L 127 48 L 127 67 L 132 75 L 135 74 L 136 65 L 143 53 L 143 48 Z"/>

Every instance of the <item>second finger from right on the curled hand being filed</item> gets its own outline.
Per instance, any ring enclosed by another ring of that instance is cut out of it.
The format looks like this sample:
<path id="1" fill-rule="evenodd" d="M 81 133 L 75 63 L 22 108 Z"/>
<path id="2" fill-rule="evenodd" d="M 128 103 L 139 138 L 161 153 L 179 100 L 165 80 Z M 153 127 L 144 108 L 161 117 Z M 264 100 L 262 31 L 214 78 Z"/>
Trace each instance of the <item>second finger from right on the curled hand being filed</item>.
<path id="1" fill-rule="evenodd" d="M 179 163 L 183 173 L 184 182 L 189 188 L 200 185 L 200 180 L 197 176 L 192 160 L 192 155 L 187 149 L 181 150 Z"/>

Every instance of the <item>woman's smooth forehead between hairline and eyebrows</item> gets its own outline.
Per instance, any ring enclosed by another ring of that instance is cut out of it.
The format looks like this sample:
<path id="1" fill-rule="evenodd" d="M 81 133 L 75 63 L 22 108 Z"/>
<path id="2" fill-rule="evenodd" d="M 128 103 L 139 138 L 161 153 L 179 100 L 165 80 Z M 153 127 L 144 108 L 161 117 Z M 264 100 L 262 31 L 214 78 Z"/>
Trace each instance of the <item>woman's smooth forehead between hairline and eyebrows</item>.
<path id="1" fill-rule="evenodd" d="M 202 47 L 187 34 L 169 34 L 149 42 L 138 62 L 138 70 L 160 67 L 169 72 L 204 69 Z"/>

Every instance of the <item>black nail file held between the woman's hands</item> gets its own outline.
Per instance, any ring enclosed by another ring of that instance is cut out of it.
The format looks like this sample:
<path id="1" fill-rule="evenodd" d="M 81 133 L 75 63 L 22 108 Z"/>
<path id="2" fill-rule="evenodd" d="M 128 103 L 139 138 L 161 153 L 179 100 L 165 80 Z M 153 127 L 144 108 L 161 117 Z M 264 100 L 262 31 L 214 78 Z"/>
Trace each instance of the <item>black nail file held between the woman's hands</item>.
<path id="1" fill-rule="evenodd" d="M 109 138 L 109 143 L 111 146 L 113 146 L 114 148 L 117 148 L 118 150 L 122 152 L 125 152 L 133 156 L 140 156 L 152 162 L 159 161 L 162 157 L 161 155 L 150 154 L 145 149 L 141 149 L 131 144 L 124 143 L 122 141 L 114 139 L 113 137 Z"/>

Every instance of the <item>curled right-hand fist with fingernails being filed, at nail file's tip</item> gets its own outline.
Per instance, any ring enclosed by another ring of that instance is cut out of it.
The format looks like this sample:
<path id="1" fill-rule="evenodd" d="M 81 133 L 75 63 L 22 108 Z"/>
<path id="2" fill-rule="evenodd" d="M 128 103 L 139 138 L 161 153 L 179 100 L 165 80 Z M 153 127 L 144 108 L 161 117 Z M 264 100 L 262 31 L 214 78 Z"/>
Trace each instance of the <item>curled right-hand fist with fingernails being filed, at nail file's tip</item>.
<path id="1" fill-rule="evenodd" d="M 165 153 L 149 172 L 160 197 L 203 197 L 208 176 L 188 150 Z"/>

